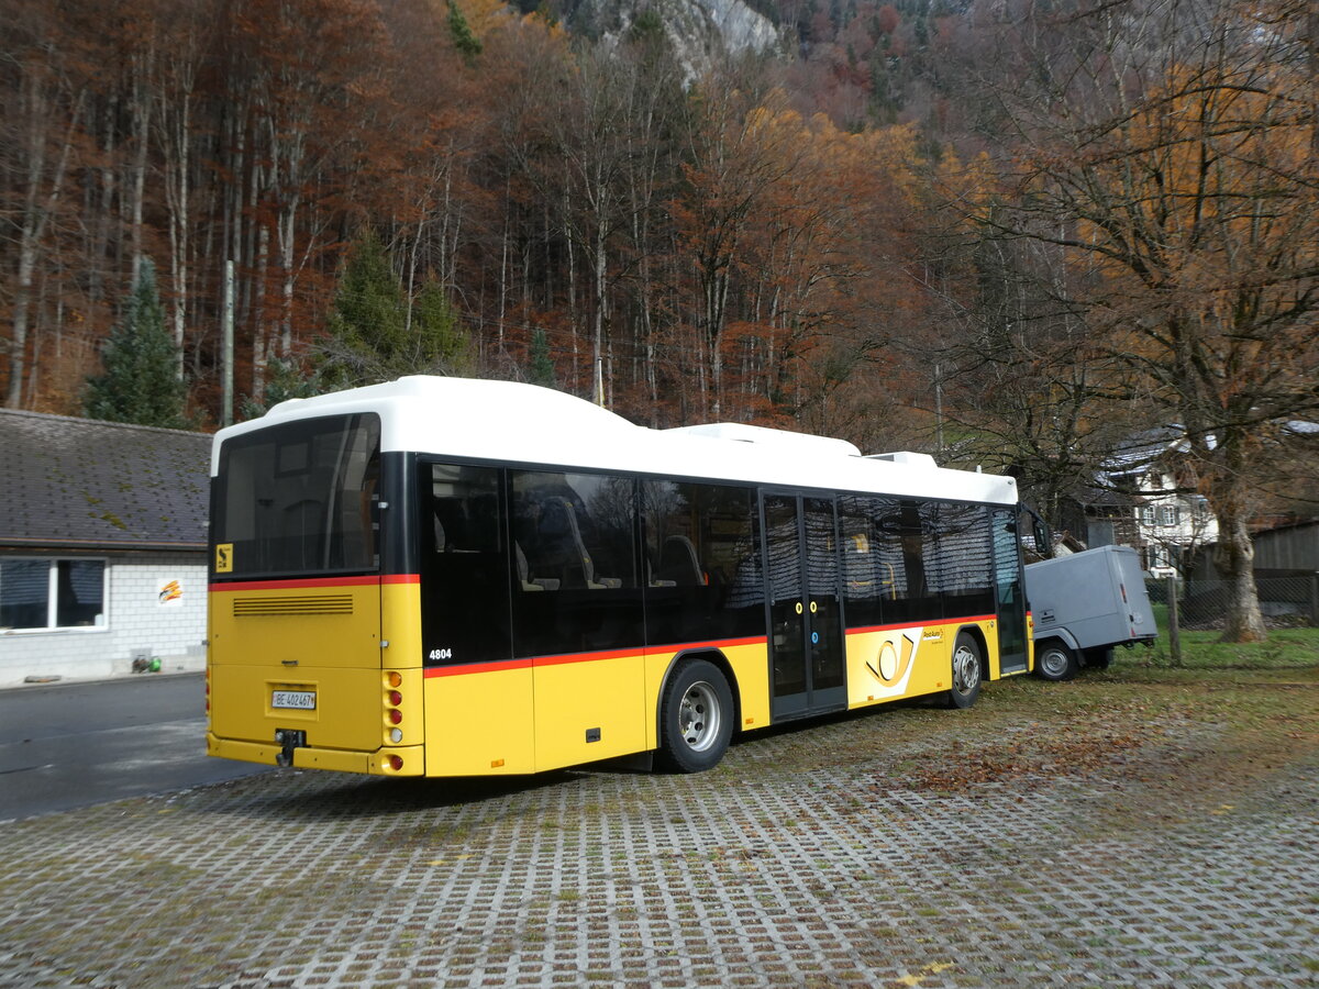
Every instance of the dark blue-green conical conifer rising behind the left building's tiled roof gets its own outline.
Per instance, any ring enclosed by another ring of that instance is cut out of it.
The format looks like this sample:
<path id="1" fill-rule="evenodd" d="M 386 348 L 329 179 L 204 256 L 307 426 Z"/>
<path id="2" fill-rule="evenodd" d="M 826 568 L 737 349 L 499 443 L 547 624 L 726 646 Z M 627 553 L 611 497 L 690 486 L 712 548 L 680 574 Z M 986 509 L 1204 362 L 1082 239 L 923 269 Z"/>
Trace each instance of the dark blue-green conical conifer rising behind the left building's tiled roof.
<path id="1" fill-rule="evenodd" d="M 100 355 L 104 373 L 87 378 L 83 411 L 92 419 L 191 429 L 178 347 L 165 328 L 156 265 L 142 258 L 123 318 Z"/>

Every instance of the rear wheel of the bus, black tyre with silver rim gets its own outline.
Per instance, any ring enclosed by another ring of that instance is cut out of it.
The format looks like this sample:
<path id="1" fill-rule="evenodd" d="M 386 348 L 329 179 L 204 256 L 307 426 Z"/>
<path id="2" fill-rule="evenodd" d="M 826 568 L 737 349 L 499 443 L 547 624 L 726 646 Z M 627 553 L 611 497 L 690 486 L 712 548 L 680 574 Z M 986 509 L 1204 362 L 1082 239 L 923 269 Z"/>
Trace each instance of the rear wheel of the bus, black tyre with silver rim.
<path id="1" fill-rule="evenodd" d="M 660 704 L 660 762 L 675 773 L 719 765 L 733 733 L 733 694 L 718 666 L 692 659 L 674 670 Z"/>

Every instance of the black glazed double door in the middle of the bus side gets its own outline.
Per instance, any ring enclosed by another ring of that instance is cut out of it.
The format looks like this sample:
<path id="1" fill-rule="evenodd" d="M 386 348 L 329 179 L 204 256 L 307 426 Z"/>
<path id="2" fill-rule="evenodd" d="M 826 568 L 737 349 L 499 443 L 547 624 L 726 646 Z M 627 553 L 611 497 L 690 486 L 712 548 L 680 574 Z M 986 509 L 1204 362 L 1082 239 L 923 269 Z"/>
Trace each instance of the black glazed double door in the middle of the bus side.
<path id="1" fill-rule="evenodd" d="M 847 704 L 834 498 L 762 496 L 770 716 Z"/>

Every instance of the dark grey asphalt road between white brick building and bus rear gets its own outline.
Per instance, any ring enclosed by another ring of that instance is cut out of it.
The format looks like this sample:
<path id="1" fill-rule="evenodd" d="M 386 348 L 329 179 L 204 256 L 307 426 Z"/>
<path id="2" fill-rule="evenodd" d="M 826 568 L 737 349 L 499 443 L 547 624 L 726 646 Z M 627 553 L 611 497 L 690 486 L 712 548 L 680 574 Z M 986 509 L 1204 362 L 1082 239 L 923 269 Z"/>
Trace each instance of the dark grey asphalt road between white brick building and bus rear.
<path id="1" fill-rule="evenodd" d="M 0 820 L 265 771 L 206 756 L 202 674 L 0 691 Z"/>

